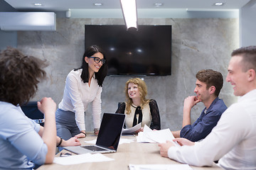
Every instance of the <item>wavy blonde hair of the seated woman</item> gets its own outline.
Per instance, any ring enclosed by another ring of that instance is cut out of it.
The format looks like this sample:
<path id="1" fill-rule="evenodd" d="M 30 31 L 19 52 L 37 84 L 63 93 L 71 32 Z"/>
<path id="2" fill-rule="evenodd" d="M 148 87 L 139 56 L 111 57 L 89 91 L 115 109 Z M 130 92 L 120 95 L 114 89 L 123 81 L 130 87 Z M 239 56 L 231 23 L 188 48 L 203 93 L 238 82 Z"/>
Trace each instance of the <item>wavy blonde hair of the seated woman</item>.
<path id="1" fill-rule="evenodd" d="M 145 81 L 143 81 L 142 79 L 139 78 L 134 78 L 134 79 L 129 79 L 126 82 L 126 86 L 125 86 L 125 90 L 124 93 L 126 95 L 126 101 L 127 101 L 127 114 L 131 113 L 131 106 L 132 106 L 132 98 L 129 98 L 129 94 L 128 94 L 128 84 L 132 83 L 132 84 L 137 84 L 138 89 L 139 89 L 139 94 L 141 97 L 141 108 L 143 108 L 143 106 L 146 103 L 149 103 L 149 99 L 146 98 L 146 94 L 147 94 L 147 87 L 146 87 L 146 83 Z"/>

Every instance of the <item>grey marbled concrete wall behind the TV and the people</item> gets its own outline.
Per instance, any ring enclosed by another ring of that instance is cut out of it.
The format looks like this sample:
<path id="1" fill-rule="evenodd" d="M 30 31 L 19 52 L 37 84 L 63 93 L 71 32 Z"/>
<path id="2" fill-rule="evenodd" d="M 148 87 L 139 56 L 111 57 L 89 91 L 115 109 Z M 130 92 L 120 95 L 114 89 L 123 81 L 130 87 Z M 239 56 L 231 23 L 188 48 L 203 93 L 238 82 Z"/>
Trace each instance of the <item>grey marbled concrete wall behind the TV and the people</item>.
<path id="1" fill-rule="evenodd" d="M 56 103 L 60 102 L 65 77 L 81 64 L 85 24 L 124 24 L 124 21 L 122 18 L 58 18 L 55 32 L 18 32 L 19 49 L 50 62 L 48 81 L 39 84 L 33 100 L 50 96 Z M 139 18 L 139 24 L 172 25 L 172 75 L 143 78 L 148 86 L 148 98 L 156 99 L 159 105 L 161 128 L 179 130 L 183 99 L 194 94 L 196 72 L 215 69 L 225 79 L 230 53 L 239 46 L 238 18 Z M 105 79 L 102 113 L 116 111 L 117 103 L 124 101 L 124 84 L 129 78 Z M 220 98 L 227 106 L 236 101 L 230 84 L 224 83 Z M 193 108 L 193 121 L 203 108 L 202 103 Z M 87 130 L 92 130 L 91 109 L 86 112 L 85 119 Z"/>

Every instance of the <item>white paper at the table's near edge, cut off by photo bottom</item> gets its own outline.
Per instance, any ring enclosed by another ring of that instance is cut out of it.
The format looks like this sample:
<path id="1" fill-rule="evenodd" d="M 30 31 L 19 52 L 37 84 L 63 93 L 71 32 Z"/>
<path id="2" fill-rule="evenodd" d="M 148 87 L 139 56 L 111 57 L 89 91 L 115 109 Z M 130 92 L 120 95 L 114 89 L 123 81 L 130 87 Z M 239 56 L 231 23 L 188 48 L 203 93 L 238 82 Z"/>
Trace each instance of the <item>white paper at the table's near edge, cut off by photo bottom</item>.
<path id="1" fill-rule="evenodd" d="M 188 164 L 129 164 L 129 170 L 193 170 Z"/>

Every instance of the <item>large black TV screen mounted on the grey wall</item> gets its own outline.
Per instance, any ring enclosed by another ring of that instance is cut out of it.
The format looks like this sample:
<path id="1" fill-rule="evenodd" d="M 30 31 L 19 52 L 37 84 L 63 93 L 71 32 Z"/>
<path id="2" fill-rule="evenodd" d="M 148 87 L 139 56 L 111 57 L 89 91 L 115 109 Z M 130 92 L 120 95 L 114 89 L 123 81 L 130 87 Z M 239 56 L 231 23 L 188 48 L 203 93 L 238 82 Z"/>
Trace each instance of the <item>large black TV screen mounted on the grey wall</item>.
<path id="1" fill-rule="evenodd" d="M 171 75 L 171 26 L 85 25 L 85 48 L 98 45 L 108 75 Z"/>

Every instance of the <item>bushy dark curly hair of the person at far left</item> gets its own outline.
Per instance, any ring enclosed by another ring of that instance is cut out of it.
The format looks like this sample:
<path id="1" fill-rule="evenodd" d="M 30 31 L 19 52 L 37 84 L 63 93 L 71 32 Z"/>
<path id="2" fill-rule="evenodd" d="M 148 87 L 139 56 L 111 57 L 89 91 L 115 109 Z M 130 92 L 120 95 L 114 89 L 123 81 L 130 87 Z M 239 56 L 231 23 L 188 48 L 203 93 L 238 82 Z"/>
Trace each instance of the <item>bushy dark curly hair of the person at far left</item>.
<path id="1" fill-rule="evenodd" d="M 46 61 L 23 55 L 8 47 L 0 53 L 0 101 L 15 106 L 28 102 L 36 94 L 39 79 L 46 78 Z"/>

